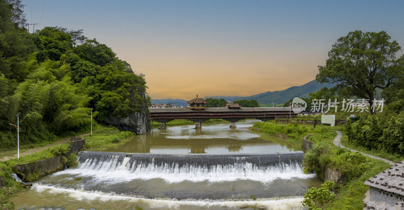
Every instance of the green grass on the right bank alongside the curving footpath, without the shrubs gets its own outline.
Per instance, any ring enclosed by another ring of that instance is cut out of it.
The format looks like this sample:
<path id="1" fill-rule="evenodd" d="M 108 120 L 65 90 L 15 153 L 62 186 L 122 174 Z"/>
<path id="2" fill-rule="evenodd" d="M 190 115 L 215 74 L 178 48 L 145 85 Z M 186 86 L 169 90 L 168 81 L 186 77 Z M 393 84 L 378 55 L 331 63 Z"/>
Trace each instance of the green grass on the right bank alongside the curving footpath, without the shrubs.
<path id="1" fill-rule="evenodd" d="M 327 167 L 340 171 L 348 171 L 346 169 L 347 165 L 341 160 L 338 161 L 336 152 L 338 151 L 339 147 L 333 144 L 333 140 L 336 136 L 336 132 L 333 130 L 342 131 L 343 135 L 341 141 L 346 141 L 347 136 L 344 133 L 345 126 L 330 127 L 325 125 L 317 125 L 316 128 L 314 128 L 313 125 L 304 124 L 297 125 L 278 124 L 275 122 L 259 122 L 253 127 L 258 128 L 261 132 L 268 133 L 270 135 L 275 133 L 287 134 L 289 136 L 289 141 L 300 141 L 300 138 L 306 136 L 307 134 L 314 133 L 314 135 L 309 137 L 309 140 L 313 141 L 315 144 L 323 142 L 330 146 L 329 153 L 324 155 L 321 161 L 324 161 L 324 164 Z M 345 146 L 350 147 L 350 145 Z M 364 151 L 363 148 L 356 147 L 355 149 Z M 368 152 L 365 150 L 365 152 L 382 156 L 383 158 L 387 158 L 389 160 L 397 159 L 395 155 L 383 153 L 382 151 Z M 323 209 L 363 209 L 363 199 L 365 198 L 365 193 L 369 190 L 369 186 L 363 184 L 363 182 L 390 167 L 390 165 L 386 162 L 375 160 L 369 157 L 366 157 L 366 166 L 367 167 L 365 170 L 362 171 L 363 173 L 361 172 L 361 176 L 357 177 L 356 179 L 348 180 L 343 186 L 339 187 L 336 191 L 335 199 L 323 206 Z"/>

